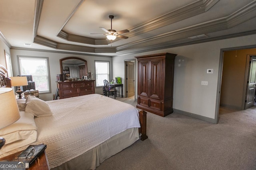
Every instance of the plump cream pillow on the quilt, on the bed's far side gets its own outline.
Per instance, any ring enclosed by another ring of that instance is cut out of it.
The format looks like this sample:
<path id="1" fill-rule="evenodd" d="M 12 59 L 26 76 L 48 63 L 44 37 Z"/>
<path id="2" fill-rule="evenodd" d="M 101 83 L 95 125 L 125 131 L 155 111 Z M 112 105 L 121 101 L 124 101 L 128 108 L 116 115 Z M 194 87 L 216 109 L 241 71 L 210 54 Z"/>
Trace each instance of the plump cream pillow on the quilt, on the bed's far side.
<path id="1" fill-rule="evenodd" d="M 26 112 L 34 113 L 36 117 L 51 116 L 52 111 L 48 104 L 34 96 L 27 96 L 26 98 Z"/>

